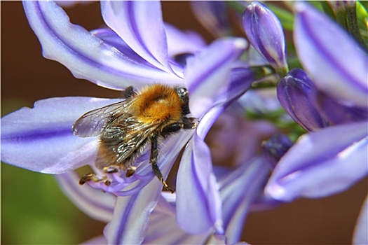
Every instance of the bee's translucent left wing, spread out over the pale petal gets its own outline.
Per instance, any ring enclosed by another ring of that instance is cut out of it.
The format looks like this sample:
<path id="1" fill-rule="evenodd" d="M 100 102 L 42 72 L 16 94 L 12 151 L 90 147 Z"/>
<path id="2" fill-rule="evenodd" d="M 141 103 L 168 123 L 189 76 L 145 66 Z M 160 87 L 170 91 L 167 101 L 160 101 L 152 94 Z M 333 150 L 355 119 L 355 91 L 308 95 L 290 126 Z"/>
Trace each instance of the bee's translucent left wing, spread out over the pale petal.
<path id="1" fill-rule="evenodd" d="M 71 131 L 74 135 L 79 137 L 94 137 L 100 135 L 111 119 L 126 113 L 131 104 L 132 99 L 125 99 L 122 102 L 89 111 L 76 120 L 73 127 L 71 127 Z"/>

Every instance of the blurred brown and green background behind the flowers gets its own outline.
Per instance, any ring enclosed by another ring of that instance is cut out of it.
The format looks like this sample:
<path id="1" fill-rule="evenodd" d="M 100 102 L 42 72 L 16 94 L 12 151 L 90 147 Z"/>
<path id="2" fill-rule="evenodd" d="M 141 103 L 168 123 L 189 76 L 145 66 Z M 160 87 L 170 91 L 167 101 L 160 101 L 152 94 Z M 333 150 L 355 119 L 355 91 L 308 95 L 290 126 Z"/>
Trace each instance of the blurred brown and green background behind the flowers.
<path id="1" fill-rule="evenodd" d="M 97 2 L 67 9 L 71 22 L 86 29 L 102 25 Z M 183 1 L 163 2 L 163 15 L 181 29 L 212 37 Z M 118 92 L 74 78 L 44 59 L 20 1 L 1 1 L 1 114 L 64 96 L 117 97 Z M 21 151 L 21 149 L 20 149 Z M 346 193 L 321 200 L 298 200 L 250 214 L 243 241 L 250 244 L 350 244 L 367 179 Z M 1 244 L 76 244 L 100 235 L 103 223 L 90 220 L 67 200 L 52 176 L 1 164 Z"/>

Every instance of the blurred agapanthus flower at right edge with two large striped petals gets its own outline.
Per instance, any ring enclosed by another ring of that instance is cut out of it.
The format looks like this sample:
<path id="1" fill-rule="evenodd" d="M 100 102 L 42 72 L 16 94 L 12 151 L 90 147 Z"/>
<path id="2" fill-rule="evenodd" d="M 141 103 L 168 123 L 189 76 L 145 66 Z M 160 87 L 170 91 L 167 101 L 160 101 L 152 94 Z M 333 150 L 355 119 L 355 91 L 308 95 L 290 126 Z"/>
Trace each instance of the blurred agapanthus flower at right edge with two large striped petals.
<path id="1" fill-rule="evenodd" d="M 297 4 L 295 11 L 294 42 L 311 79 L 291 71 L 286 79 L 293 79 L 289 83 L 293 87 L 282 83 L 278 91 L 284 91 L 279 96 L 289 100 L 283 104 L 287 111 L 297 111 L 300 115 L 313 110 L 319 116 L 298 116 L 297 123 L 300 120 L 301 125 L 311 125 L 312 121 L 320 120 L 320 129 L 305 127 L 315 132 L 298 139 L 280 159 L 268 181 L 266 193 L 287 202 L 298 197 L 318 198 L 339 193 L 368 172 L 367 53 L 346 31 L 308 4 Z M 313 86 L 306 87 L 306 83 Z M 290 95 L 286 92 L 289 90 L 308 94 L 308 104 L 304 103 L 305 97 Z M 295 106 L 298 103 L 305 108 Z M 367 223 L 359 224 L 355 234 L 361 237 L 354 240 L 365 244 Z"/>

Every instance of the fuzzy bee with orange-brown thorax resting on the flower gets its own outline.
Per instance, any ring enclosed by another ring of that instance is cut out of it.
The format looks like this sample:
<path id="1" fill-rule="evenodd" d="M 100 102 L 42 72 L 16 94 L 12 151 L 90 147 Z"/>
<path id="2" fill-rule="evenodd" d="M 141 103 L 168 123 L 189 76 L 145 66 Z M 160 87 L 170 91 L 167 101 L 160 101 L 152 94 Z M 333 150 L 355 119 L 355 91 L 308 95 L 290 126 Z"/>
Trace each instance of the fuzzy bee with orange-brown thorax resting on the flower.
<path id="1" fill-rule="evenodd" d="M 194 118 L 187 118 L 189 93 L 185 87 L 154 84 L 139 92 L 130 86 L 123 101 L 89 111 L 76 120 L 72 132 L 78 137 L 99 136 L 95 165 L 104 172 L 117 172 L 118 167 L 130 177 L 135 172 L 132 162 L 151 145 L 149 163 L 163 186 L 173 193 L 157 165 L 158 144 L 180 130 L 196 127 Z M 79 183 L 100 181 L 95 174 L 86 174 Z M 109 181 L 104 180 L 107 185 Z"/>

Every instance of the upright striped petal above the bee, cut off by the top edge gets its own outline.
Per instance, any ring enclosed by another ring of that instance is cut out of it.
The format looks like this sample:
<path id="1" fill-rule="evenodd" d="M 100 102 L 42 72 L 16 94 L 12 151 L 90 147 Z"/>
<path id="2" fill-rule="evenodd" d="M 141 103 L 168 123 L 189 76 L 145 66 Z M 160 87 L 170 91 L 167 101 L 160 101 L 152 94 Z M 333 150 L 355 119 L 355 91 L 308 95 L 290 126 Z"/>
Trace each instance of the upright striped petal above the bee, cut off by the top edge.
<path id="1" fill-rule="evenodd" d="M 104 22 L 132 50 L 165 71 L 171 71 L 159 1 L 101 1 Z"/>

